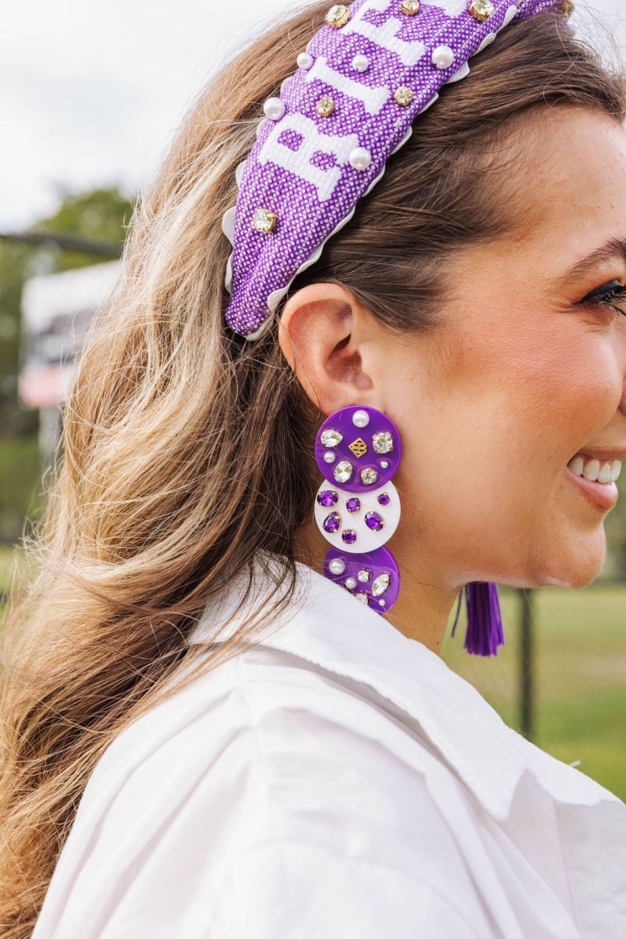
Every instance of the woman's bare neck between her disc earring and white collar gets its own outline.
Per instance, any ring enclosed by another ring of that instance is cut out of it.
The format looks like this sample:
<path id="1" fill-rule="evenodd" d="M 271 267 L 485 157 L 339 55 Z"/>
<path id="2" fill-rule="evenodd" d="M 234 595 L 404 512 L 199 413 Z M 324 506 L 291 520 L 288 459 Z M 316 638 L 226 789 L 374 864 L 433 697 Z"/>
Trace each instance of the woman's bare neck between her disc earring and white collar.
<path id="1" fill-rule="evenodd" d="M 328 542 L 310 520 L 296 532 L 294 542 L 297 561 L 324 575 L 324 558 Z M 459 587 L 436 583 L 433 572 L 426 572 L 417 559 L 390 549 L 400 568 L 401 587 L 398 599 L 385 619 L 408 639 L 417 639 L 431 652 L 439 654 L 450 611 L 458 601 Z M 357 601 L 355 600 L 355 603 Z"/>

